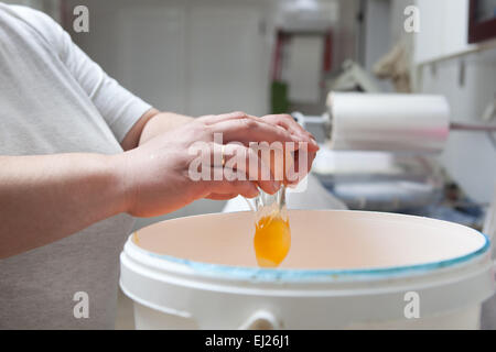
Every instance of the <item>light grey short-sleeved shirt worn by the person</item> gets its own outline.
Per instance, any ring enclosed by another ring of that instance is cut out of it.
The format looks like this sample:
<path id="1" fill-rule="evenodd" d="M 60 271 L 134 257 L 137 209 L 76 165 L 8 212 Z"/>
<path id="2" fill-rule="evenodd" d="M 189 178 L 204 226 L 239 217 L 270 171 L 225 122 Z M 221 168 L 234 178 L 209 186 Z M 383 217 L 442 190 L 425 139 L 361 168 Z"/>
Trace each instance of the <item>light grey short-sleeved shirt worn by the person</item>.
<path id="1" fill-rule="evenodd" d="M 120 153 L 150 108 L 50 16 L 0 3 L 0 155 Z M 112 328 L 118 255 L 132 224 L 119 215 L 0 261 L 0 328 Z M 87 319 L 74 316 L 78 292 L 88 294 Z"/>

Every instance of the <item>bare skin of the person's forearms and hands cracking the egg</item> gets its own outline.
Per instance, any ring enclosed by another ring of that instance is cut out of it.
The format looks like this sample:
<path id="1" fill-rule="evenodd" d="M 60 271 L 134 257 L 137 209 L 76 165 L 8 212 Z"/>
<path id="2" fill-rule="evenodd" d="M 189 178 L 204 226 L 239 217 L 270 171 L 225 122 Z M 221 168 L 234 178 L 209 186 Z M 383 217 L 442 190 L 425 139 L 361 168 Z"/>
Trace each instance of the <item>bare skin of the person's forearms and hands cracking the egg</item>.
<path id="1" fill-rule="evenodd" d="M 251 198 L 257 186 L 270 194 L 280 187 L 273 180 L 191 180 L 188 165 L 195 156 L 187 153 L 188 146 L 213 143 L 217 132 L 224 143 L 244 145 L 308 142 L 309 169 L 319 148 L 289 116 L 234 112 L 193 119 L 151 109 L 121 142 L 123 153 L 0 155 L 0 257 L 57 241 L 121 212 L 153 217 L 201 198 Z"/>

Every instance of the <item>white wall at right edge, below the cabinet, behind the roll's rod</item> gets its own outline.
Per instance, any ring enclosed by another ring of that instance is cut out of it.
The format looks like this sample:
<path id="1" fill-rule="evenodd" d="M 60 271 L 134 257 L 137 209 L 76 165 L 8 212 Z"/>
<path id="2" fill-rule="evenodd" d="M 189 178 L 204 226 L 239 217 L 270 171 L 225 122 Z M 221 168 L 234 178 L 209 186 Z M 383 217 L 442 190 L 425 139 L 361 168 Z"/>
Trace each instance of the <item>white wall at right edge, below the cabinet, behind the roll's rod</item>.
<path id="1" fill-rule="evenodd" d="M 441 62 L 435 68 L 424 66 L 421 91 L 444 95 L 453 121 L 482 123 L 484 108 L 496 96 L 496 51 Z M 470 196 L 481 202 L 490 201 L 496 185 L 496 148 L 486 133 L 452 131 L 441 162 Z"/>

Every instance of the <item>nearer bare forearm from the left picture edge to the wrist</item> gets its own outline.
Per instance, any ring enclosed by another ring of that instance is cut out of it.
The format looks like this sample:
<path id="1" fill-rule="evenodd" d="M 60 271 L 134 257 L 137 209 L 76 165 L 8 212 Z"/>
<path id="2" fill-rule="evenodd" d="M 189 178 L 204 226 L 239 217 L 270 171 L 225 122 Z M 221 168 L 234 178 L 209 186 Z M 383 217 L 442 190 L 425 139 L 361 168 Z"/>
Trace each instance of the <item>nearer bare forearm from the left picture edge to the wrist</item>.
<path id="1" fill-rule="evenodd" d="M 0 257 L 126 211 L 121 157 L 0 156 Z"/>

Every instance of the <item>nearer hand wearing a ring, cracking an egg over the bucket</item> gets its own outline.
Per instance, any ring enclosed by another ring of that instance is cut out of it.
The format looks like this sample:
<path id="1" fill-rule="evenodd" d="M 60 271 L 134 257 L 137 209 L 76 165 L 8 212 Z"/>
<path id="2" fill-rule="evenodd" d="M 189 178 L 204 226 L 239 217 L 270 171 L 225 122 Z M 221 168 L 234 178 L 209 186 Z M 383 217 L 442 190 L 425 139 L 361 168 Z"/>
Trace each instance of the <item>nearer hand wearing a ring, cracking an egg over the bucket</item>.
<path id="1" fill-rule="evenodd" d="M 215 163 L 219 160 L 218 153 L 225 150 L 216 145 L 216 133 L 222 133 L 224 144 L 239 142 L 229 147 L 238 155 L 245 155 L 246 165 L 237 167 L 246 173 L 246 179 L 193 180 L 190 177 L 191 164 L 198 157 L 191 151 L 198 142 L 209 146 L 213 161 L 211 169 L 202 172 L 213 175 L 216 168 L 224 166 Z M 137 217 L 152 217 L 174 211 L 201 198 L 229 199 L 237 195 L 252 198 L 258 195 L 257 186 L 273 194 L 280 183 L 273 178 L 260 179 L 268 166 L 247 147 L 250 142 L 294 142 L 298 145 L 299 142 L 311 143 L 311 139 L 285 118 L 255 118 L 242 112 L 197 118 L 118 156 L 123 169 L 127 211 Z M 257 175 L 251 175 L 248 160 L 259 165 Z"/>

